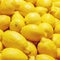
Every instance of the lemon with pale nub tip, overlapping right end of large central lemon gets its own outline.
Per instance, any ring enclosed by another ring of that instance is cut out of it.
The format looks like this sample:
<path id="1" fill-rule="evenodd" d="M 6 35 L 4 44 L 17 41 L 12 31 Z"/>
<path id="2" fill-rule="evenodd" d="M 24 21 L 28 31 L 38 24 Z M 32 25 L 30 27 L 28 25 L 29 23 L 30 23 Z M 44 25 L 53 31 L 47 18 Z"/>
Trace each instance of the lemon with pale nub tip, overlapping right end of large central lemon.
<path id="1" fill-rule="evenodd" d="M 53 35 L 53 27 L 49 23 L 40 23 L 39 28 L 43 28 L 47 38 L 51 38 Z"/>

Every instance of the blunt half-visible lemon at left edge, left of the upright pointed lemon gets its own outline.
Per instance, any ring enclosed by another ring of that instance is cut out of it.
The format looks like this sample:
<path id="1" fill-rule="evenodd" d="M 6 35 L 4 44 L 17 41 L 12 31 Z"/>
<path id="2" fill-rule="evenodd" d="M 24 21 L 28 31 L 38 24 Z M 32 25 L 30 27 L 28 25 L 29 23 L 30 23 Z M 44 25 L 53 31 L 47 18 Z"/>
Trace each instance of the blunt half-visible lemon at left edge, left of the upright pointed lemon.
<path id="1" fill-rule="evenodd" d="M 7 15 L 0 15 L 0 29 L 6 30 L 10 24 L 10 17 Z"/>

